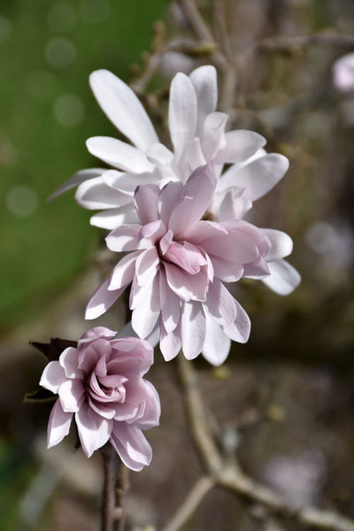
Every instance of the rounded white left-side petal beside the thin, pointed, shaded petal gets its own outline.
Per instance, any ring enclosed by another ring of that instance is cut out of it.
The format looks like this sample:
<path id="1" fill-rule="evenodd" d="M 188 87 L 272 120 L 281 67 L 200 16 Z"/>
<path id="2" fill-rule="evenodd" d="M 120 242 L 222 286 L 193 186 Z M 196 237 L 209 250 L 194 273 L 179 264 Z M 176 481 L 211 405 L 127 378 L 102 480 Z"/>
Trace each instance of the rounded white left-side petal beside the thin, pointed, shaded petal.
<path id="1" fill-rule="evenodd" d="M 107 186 L 103 175 L 82 182 L 75 193 L 76 202 L 89 210 L 116 208 L 130 203 L 131 197 Z"/>

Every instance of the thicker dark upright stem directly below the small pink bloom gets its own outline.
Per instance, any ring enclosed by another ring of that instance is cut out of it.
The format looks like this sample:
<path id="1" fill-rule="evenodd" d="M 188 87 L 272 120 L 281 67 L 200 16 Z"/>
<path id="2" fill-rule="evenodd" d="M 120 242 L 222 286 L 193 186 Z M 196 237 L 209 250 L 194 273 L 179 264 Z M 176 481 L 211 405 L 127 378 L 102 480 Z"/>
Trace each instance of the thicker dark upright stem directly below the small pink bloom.
<path id="1" fill-rule="evenodd" d="M 104 487 L 101 502 L 101 531 L 112 531 L 115 504 L 115 458 L 116 452 L 110 443 L 101 450 L 104 466 Z"/>

